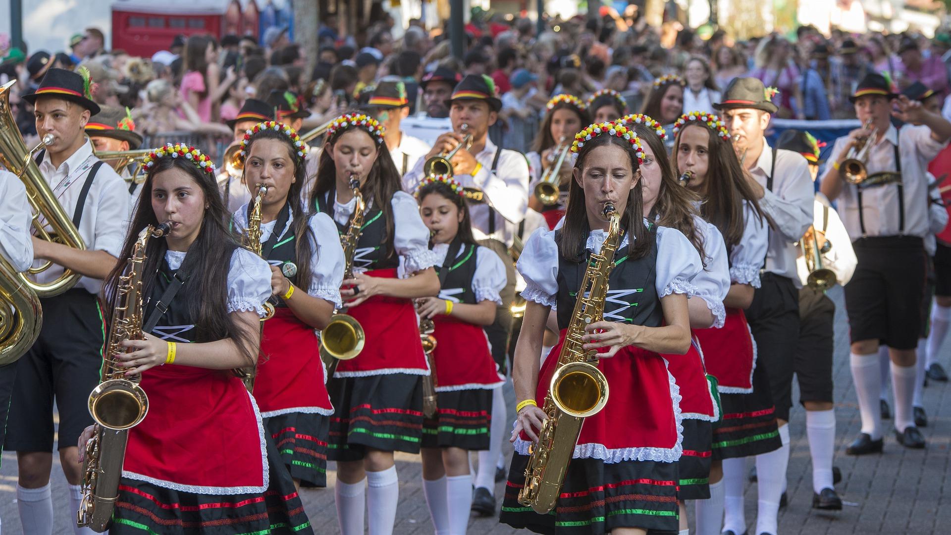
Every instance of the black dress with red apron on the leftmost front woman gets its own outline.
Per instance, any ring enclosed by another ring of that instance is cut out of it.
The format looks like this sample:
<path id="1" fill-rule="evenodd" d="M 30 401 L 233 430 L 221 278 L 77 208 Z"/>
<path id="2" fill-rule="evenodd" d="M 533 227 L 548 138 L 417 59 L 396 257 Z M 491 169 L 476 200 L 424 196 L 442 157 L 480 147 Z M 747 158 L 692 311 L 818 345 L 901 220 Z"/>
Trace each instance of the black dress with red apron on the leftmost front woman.
<path id="1" fill-rule="evenodd" d="M 143 328 L 154 324 L 153 335 L 184 345 L 198 339 L 189 307 L 198 297 L 177 291 L 189 277 L 183 268 L 163 259 Z M 276 525 L 313 533 L 240 378 L 167 365 L 143 373 L 141 385 L 148 414 L 128 432 L 111 533 L 264 533 Z"/>

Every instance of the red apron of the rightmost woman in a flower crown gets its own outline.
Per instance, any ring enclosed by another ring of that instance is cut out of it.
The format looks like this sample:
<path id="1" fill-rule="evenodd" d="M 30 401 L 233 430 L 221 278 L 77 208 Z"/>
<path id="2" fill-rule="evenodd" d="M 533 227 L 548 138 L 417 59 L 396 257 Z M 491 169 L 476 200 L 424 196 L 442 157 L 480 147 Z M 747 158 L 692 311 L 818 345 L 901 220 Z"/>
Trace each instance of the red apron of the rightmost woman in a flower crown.
<path id="1" fill-rule="evenodd" d="M 721 393 L 748 394 L 753 391 L 756 367 L 756 343 L 740 308 L 727 308 L 727 321 L 721 328 L 693 331 L 704 348 L 707 372 L 717 378 Z"/>

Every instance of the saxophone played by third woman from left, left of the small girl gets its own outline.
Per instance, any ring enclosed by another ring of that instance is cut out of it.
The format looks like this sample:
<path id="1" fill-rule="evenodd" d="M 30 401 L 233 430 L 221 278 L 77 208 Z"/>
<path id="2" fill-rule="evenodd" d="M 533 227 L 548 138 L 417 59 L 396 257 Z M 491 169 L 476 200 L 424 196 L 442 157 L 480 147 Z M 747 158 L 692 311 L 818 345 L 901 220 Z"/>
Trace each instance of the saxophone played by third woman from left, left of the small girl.
<path id="1" fill-rule="evenodd" d="M 360 228 L 363 226 L 363 210 L 366 208 L 363 194 L 359 190 L 359 176 L 355 172 L 350 173 L 350 188 L 357 203 L 353 215 L 350 216 L 350 227 L 347 228 L 347 233 L 340 237 L 346 262 L 343 268 L 344 279 L 352 279 L 354 276 L 354 255 L 357 252 Z M 320 359 L 327 367 L 328 376 L 334 374 L 340 361 L 357 357 L 363 350 L 365 340 L 363 327 L 356 318 L 335 310 L 334 315 L 330 317 L 330 323 L 320 331 Z"/>

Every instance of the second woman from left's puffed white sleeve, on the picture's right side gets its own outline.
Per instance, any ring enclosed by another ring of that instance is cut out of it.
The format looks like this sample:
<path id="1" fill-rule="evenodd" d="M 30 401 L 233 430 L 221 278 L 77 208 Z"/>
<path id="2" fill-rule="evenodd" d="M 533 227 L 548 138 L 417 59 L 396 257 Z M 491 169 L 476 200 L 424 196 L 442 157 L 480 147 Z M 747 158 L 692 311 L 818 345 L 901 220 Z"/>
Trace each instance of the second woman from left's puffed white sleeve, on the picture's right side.
<path id="1" fill-rule="evenodd" d="M 340 285 L 343 284 L 343 247 L 337 224 L 326 213 L 310 216 L 311 231 L 310 284 L 307 293 L 340 308 Z"/>

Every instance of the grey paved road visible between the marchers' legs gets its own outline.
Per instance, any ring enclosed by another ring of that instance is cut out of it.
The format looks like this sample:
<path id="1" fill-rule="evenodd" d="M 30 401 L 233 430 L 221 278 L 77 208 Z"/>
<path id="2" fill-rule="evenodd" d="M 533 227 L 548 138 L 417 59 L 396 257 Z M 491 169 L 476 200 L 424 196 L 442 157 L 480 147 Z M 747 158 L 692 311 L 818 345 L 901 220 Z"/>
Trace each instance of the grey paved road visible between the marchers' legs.
<path id="1" fill-rule="evenodd" d="M 841 290 L 833 290 L 837 304 L 842 303 Z M 843 307 L 836 316 L 835 384 L 837 417 L 836 466 L 843 471 L 839 492 L 847 505 L 841 512 L 819 513 L 810 508 L 812 476 L 808 444 L 805 440 L 805 413 L 794 407 L 790 435 L 792 453 L 789 460 L 788 491 L 790 504 L 780 512 L 782 535 L 839 535 L 846 533 L 949 533 L 951 532 L 951 387 L 935 384 L 925 388 L 924 401 L 930 425 L 924 429 L 928 447 L 924 450 L 905 449 L 892 436 L 885 439 L 883 455 L 849 457 L 845 446 L 859 432 L 860 421 L 855 391 L 848 368 L 848 340 Z M 945 355 L 951 353 L 951 347 Z M 943 359 L 945 366 L 949 359 Z M 511 386 L 507 394 L 513 396 Z M 794 394 L 794 399 L 798 394 Z M 514 405 L 514 404 L 511 404 Z M 511 454 L 511 448 L 507 448 Z M 432 533 L 429 512 L 420 484 L 420 465 L 417 456 L 398 454 L 399 508 L 395 533 L 422 535 Z M 62 473 L 54 466 L 53 505 L 56 510 L 55 533 L 72 533 L 69 522 L 73 513 L 68 511 Z M 304 505 L 320 534 L 337 534 L 334 507 L 333 471 L 328 471 L 328 488 L 301 491 Z M 19 517 L 15 504 L 16 460 L 6 453 L 0 466 L 0 518 L 4 533 L 20 535 Z M 502 484 L 496 488 L 500 495 Z M 747 522 L 755 528 L 756 486 L 747 491 Z M 495 518 L 476 519 L 470 524 L 470 533 L 514 533 L 499 525 Z"/>

